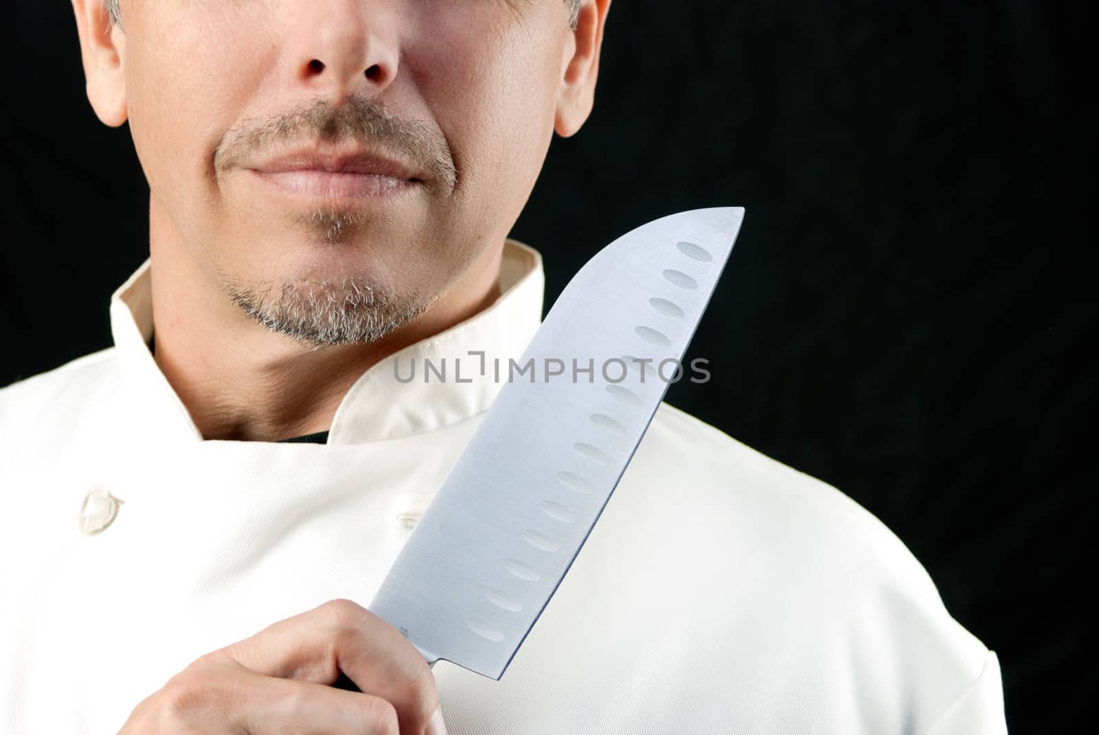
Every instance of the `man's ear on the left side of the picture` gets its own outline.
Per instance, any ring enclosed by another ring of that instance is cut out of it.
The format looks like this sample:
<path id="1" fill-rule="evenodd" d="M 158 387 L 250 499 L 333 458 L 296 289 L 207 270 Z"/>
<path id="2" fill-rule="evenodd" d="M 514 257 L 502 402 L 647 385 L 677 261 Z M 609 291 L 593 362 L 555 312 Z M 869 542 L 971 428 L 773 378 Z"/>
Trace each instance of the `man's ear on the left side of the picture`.
<path id="1" fill-rule="evenodd" d="M 125 34 L 111 23 L 103 0 L 71 1 L 88 101 L 103 124 L 118 127 L 126 121 Z"/>

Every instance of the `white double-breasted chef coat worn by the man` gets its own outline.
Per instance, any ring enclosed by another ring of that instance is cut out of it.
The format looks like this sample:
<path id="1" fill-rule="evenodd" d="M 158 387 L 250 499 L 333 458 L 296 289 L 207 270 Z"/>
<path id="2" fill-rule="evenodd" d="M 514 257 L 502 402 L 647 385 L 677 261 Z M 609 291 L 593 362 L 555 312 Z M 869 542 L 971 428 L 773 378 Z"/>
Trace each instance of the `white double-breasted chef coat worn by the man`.
<path id="1" fill-rule="evenodd" d="M 500 388 L 382 360 L 326 445 L 203 441 L 147 347 L 149 267 L 113 347 L 0 390 L 5 735 L 116 732 L 200 655 L 367 605 Z M 543 285 L 509 241 L 496 303 L 401 364 L 518 359 Z M 434 673 L 453 735 L 1006 732 L 996 655 L 896 536 L 667 404 L 502 680 Z"/>

